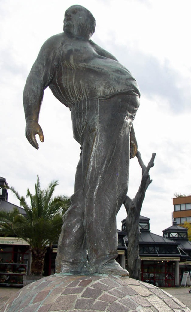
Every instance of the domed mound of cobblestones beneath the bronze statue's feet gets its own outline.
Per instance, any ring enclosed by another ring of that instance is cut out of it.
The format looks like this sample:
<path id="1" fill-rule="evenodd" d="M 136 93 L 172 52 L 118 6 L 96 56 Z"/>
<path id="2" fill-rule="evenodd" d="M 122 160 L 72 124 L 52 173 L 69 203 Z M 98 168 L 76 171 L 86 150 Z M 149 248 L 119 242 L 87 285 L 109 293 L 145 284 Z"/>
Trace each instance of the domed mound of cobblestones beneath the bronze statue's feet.
<path id="1" fill-rule="evenodd" d="M 51 275 L 23 287 L 0 312 L 191 312 L 153 285 L 116 276 Z"/>

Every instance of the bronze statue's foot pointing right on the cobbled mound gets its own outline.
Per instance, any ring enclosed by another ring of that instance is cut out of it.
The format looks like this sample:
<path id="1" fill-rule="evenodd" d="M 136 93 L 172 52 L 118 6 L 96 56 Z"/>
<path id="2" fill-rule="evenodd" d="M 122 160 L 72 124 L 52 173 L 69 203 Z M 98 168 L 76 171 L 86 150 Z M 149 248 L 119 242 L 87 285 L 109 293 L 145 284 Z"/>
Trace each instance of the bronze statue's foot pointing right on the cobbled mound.
<path id="1" fill-rule="evenodd" d="M 119 263 L 115 260 L 111 260 L 105 263 L 103 266 L 92 268 L 94 273 L 106 274 L 114 276 L 129 276 L 129 272 L 123 269 Z"/>

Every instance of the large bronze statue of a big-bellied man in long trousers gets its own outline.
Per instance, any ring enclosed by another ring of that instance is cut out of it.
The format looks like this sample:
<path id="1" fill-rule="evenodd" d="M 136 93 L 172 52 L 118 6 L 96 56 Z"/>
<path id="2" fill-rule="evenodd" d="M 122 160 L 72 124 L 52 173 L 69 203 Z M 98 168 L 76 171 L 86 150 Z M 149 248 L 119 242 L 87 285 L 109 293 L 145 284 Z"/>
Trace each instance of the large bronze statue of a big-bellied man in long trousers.
<path id="1" fill-rule="evenodd" d="M 38 117 L 47 86 L 71 110 L 74 138 L 81 145 L 56 272 L 128 275 L 115 261 L 116 213 L 127 194 L 130 157 L 137 151 L 132 122 L 139 87 L 113 55 L 90 40 L 95 19 L 85 7 L 66 10 L 63 30 L 43 44 L 23 94 L 32 146 L 38 149 L 36 134 L 44 141 Z"/>

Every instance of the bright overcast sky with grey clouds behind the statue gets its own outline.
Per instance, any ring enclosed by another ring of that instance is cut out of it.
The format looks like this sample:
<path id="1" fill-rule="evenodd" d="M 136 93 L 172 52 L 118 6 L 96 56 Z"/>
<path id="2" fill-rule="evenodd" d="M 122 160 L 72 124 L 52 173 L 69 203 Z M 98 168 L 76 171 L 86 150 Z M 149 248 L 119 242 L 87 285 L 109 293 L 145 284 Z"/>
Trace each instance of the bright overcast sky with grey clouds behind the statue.
<path id="1" fill-rule="evenodd" d="M 156 153 L 141 215 L 151 219 L 151 232 L 162 235 L 172 224 L 174 193 L 191 193 L 190 0 L 0 0 L 0 176 L 22 195 L 28 187 L 34 193 L 37 174 L 42 188 L 57 179 L 55 194 L 73 193 L 80 146 L 73 139 L 69 109 L 45 90 L 39 119 L 45 141 L 36 150 L 25 138 L 22 106 L 32 64 L 44 41 L 62 32 L 64 12 L 73 4 L 92 12 L 92 40 L 115 55 L 140 86 L 134 121 L 138 149 L 145 164 Z M 135 157 L 130 161 L 132 198 L 140 177 Z M 8 200 L 19 205 L 10 192 Z M 118 229 L 125 217 L 122 207 Z"/>

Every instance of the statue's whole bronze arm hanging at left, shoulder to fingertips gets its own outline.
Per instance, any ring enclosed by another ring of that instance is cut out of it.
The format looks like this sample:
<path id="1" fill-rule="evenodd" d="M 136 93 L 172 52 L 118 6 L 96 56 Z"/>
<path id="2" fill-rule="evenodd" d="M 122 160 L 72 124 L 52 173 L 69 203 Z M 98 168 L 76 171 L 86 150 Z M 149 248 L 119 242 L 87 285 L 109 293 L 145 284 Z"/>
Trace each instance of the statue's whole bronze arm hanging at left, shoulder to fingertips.
<path id="1" fill-rule="evenodd" d="M 43 44 L 24 87 L 23 105 L 27 123 L 26 137 L 36 149 L 38 149 L 38 144 L 35 135 L 39 134 L 41 142 L 44 141 L 42 128 L 38 124 L 38 118 L 44 90 L 51 83 L 55 67 L 58 64 L 59 49 L 57 49 L 57 45 L 57 35 L 49 38 Z"/>

